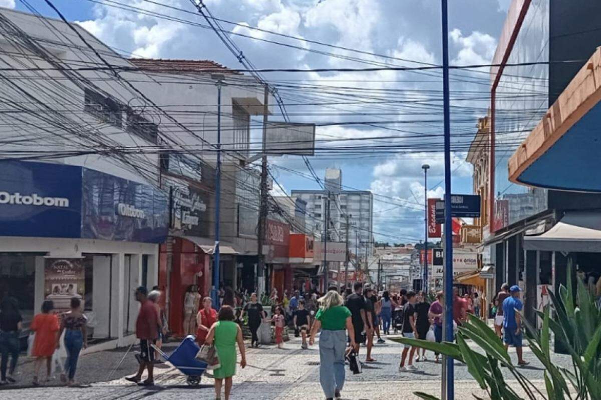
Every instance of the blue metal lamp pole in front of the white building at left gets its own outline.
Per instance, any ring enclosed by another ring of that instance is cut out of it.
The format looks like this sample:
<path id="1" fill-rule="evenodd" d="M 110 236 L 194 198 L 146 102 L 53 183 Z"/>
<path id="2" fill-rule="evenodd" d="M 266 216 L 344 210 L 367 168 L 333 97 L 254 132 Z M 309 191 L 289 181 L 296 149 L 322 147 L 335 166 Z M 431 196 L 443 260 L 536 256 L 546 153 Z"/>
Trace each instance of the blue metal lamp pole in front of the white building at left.
<path id="1" fill-rule="evenodd" d="M 221 87 L 223 86 L 223 74 L 212 74 L 211 78 L 217 83 L 217 165 L 215 168 L 215 246 L 213 247 L 213 290 L 211 297 L 215 309 L 219 309 L 219 212 L 221 201 Z"/>

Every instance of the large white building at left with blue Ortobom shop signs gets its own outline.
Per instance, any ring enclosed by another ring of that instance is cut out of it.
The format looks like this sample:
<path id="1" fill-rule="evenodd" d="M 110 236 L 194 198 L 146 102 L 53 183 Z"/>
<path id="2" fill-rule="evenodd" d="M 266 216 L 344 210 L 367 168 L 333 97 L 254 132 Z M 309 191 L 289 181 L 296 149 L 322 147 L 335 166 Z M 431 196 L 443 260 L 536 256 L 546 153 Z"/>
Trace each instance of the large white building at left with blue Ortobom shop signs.
<path id="1" fill-rule="evenodd" d="M 238 238 L 236 172 L 263 88 L 211 62 L 128 60 L 78 25 L 5 8 L 0 50 L 0 298 L 17 297 L 27 326 L 44 299 L 81 296 L 93 337 L 126 344 L 133 288 L 189 284 L 166 287 L 159 244 L 174 219 L 211 241 L 217 86 L 203 70 L 224 74 L 222 243 Z"/>

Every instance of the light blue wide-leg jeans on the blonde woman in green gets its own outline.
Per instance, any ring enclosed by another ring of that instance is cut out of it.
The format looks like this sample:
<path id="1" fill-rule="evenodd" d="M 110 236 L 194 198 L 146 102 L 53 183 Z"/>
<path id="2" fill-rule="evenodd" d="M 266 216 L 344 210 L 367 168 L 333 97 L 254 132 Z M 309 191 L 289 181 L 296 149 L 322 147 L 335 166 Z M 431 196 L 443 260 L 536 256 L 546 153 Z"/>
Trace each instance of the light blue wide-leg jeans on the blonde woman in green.
<path id="1" fill-rule="evenodd" d="M 334 398 L 336 390 L 344 386 L 344 330 L 322 330 L 319 336 L 319 382 L 326 398 Z"/>

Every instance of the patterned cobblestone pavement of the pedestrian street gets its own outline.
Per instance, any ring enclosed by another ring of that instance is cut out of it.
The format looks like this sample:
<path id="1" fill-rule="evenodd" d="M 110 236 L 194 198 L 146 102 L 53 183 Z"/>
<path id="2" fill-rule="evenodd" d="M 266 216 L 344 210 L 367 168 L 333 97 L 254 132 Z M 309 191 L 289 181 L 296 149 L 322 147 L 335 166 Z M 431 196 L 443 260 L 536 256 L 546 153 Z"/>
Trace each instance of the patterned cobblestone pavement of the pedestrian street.
<path id="1" fill-rule="evenodd" d="M 174 347 L 166 347 L 166 351 Z M 360 375 L 347 372 L 347 383 L 343 397 L 353 400 L 376 399 L 416 399 L 415 391 L 440 395 L 441 366 L 435 364 L 433 354 L 430 360 L 416 363 L 419 371 L 401 373 L 397 371 L 400 361 L 401 345 L 392 341 L 376 345 L 374 357 L 377 362 L 364 365 Z M 317 345 L 308 350 L 301 350 L 299 339 L 287 342 L 285 349 L 275 346 L 263 346 L 247 350 L 249 365 L 238 369 L 234 377 L 232 399 L 238 400 L 313 400 L 323 399 L 319 386 L 319 351 Z M 212 380 L 203 376 L 199 387 L 186 384 L 185 376 L 169 365 L 159 365 L 155 369 L 157 387 L 140 388 L 128 383 L 124 376 L 132 374 L 136 369 L 133 354 L 127 354 L 123 364 L 114 369 L 123 358 L 125 349 L 104 351 L 102 353 L 82 356 L 78 369 L 80 387 L 62 387 L 51 381 L 44 387 L 8 386 L 0 389 L 0 400 L 141 400 L 141 399 L 212 399 L 215 398 Z M 531 366 L 523 368 L 523 374 L 531 380 L 542 383 L 542 366 L 534 360 L 534 356 L 525 349 L 525 357 L 532 361 Z M 558 365 L 569 366 L 569 357 L 555 355 Z M 31 363 L 20 366 L 19 381 L 28 382 Z M 505 371 L 507 380 L 512 376 Z M 472 393 L 482 393 L 469 375 L 465 365 L 456 363 L 457 398 L 473 398 Z M 53 386 L 54 385 L 54 386 Z M 516 384 L 517 386 L 517 384 Z"/>

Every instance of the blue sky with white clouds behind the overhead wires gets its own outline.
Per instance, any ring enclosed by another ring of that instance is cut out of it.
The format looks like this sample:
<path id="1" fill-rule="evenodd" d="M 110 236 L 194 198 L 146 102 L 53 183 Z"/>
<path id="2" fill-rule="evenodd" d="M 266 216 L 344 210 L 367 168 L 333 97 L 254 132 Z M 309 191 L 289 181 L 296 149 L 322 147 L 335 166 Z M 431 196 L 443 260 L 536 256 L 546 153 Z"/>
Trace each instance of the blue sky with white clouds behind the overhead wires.
<path id="1" fill-rule="evenodd" d="M 173 20 L 186 19 L 205 24 L 194 14 L 191 0 L 53 0 L 53 4 L 67 17 L 79 23 L 100 40 L 120 52 L 144 58 L 212 59 L 227 67 L 240 68 L 236 57 L 219 41 L 215 32 Z M 156 4 L 160 3 L 162 5 Z M 449 2 L 449 49 L 451 65 L 490 64 L 496 49 L 510 0 L 459 0 Z M 0 0 L 0 6 L 27 11 L 26 4 L 46 16 L 56 17 L 44 0 Z M 121 5 L 120 5 L 121 4 Z M 124 10 L 123 4 L 166 14 L 171 20 L 159 19 L 137 11 Z M 441 2 L 439 0 L 204 0 L 213 16 L 237 23 L 222 23 L 223 28 L 237 34 L 230 35 L 243 50 L 246 59 L 257 68 L 365 68 L 370 63 L 394 64 L 401 67 L 435 64 L 441 61 Z M 167 5 L 172 8 L 163 7 Z M 117 6 L 117 7 L 115 7 Z M 121 8 L 119 8 L 121 7 Z M 178 11 L 183 9 L 185 13 Z M 249 29 L 266 31 L 305 39 L 297 40 Z M 261 40 L 262 39 L 262 40 Z M 290 44 L 293 47 L 267 43 L 265 40 Z M 349 50 L 332 49 L 310 41 L 334 44 Z M 341 57 L 318 52 L 336 53 Z M 385 55 L 382 58 L 375 55 Z M 361 58 L 362 62 L 348 58 Z M 406 61 L 405 61 L 406 60 Z M 409 62 L 412 61 L 412 62 Z M 478 91 L 486 94 L 487 68 L 452 75 L 451 98 L 454 93 Z M 326 72 L 326 73 L 270 73 L 268 81 L 287 80 L 295 85 L 328 85 L 329 88 L 361 88 L 365 96 L 388 94 L 393 91 L 410 93 L 411 101 L 430 101 L 441 104 L 442 80 L 439 71 L 424 75 L 415 71 Z M 340 90 L 340 89 L 339 89 Z M 395 93 L 397 93 L 395 92 Z M 280 91 L 284 103 L 294 103 L 298 91 Z M 349 92 L 346 101 L 353 98 Z M 316 94 L 305 100 L 315 100 Z M 477 97 L 477 96 L 474 96 Z M 485 97 L 485 96 L 483 96 Z M 404 98 L 406 100 L 406 98 Z M 349 101 L 349 103 L 352 103 Z M 353 122 L 349 125 L 318 126 L 316 137 L 320 148 L 333 146 L 327 140 L 353 139 L 348 145 L 386 146 L 387 143 L 415 145 L 412 152 L 362 152 L 345 155 L 329 151 L 308 158 L 317 175 L 323 177 L 327 167 L 342 169 L 343 185 L 347 188 L 371 190 L 374 193 L 374 236 L 385 242 L 409 243 L 423 237 L 424 174 L 421 166 L 429 164 L 429 197 L 442 197 L 444 163 L 442 152 L 427 152 L 428 142 L 423 139 L 405 139 L 409 131 L 415 134 L 441 134 L 442 109 L 435 115 L 424 116 L 415 122 L 416 115 L 407 106 L 389 106 L 386 115 L 374 115 L 383 108 L 366 106 L 361 101 L 344 106 L 287 107 L 291 121 Z M 469 144 L 475 134 L 477 118 L 486 114 L 486 99 L 451 103 L 461 110 L 451 113 L 454 119 L 451 136 L 456 143 Z M 463 108 L 462 108 L 463 107 Z M 338 113 L 342 110 L 343 113 Z M 365 115 L 363 115 L 365 114 Z M 275 119 L 278 116 L 274 116 Z M 395 121 L 393 124 L 354 124 L 362 121 Z M 456 122 L 455 122 L 456 121 Z M 384 129 L 385 127 L 386 129 Z M 392 140 L 366 141 L 376 137 Z M 410 135 L 409 135 L 410 136 Z M 467 139 L 466 139 L 467 138 Z M 356 140 L 356 141 L 355 141 Z M 362 140 L 362 141 L 361 141 Z M 404 142 L 406 140 L 406 142 Z M 440 142 L 441 139 L 438 139 Z M 459 141 L 459 142 L 457 142 Z M 463 142 L 462 142 L 463 141 Z M 333 142 L 332 142 L 333 143 Z M 418 151 L 422 149 L 423 151 Z M 465 161 L 465 146 L 452 154 L 453 193 L 472 193 L 472 169 Z M 319 153 L 319 152 L 318 152 Z M 317 189 L 304 161 L 298 156 L 270 158 L 270 169 L 284 191 Z"/>

